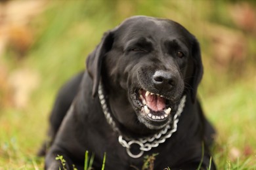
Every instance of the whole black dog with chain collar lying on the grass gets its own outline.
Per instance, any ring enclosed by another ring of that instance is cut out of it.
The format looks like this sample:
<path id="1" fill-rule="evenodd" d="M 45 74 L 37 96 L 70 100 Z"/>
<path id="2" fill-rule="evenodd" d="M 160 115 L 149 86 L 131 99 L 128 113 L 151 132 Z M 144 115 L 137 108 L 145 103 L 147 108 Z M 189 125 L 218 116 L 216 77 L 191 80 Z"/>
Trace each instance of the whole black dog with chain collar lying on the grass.
<path id="1" fill-rule="evenodd" d="M 215 132 L 196 99 L 202 74 L 198 41 L 182 25 L 128 18 L 60 90 L 45 168 L 63 168 L 61 155 L 66 169 L 83 169 L 88 150 L 95 169 L 104 152 L 105 169 L 140 168 L 156 153 L 155 169 L 215 169 L 208 150 Z"/>

